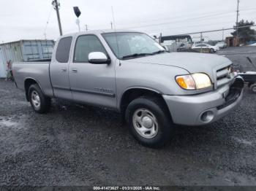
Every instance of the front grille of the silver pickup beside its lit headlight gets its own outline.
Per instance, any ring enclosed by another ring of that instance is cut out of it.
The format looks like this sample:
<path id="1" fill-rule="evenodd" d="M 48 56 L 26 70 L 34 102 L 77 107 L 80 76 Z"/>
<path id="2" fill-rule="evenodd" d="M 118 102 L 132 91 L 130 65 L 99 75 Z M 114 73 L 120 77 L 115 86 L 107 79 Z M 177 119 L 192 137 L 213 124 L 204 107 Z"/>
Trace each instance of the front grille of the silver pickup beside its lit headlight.
<path id="1" fill-rule="evenodd" d="M 217 87 L 221 87 L 222 85 L 226 85 L 230 83 L 234 77 L 234 74 L 231 69 L 232 66 L 227 66 L 222 69 L 218 69 L 217 73 Z"/>

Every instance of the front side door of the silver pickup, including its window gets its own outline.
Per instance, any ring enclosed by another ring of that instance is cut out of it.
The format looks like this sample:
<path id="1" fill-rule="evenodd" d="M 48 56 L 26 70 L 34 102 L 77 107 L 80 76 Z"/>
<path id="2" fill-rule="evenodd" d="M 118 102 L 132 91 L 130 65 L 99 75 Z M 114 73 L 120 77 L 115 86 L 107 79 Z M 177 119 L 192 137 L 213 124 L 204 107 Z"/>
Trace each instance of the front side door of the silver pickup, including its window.
<path id="1" fill-rule="evenodd" d="M 89 53 L 108 52 L 94 34 L 77 37 L 72 61 L 69 63 L 69 82 L 72 97 L 85 104 L 116 108 L 115 63 L 89 63 Z"/>

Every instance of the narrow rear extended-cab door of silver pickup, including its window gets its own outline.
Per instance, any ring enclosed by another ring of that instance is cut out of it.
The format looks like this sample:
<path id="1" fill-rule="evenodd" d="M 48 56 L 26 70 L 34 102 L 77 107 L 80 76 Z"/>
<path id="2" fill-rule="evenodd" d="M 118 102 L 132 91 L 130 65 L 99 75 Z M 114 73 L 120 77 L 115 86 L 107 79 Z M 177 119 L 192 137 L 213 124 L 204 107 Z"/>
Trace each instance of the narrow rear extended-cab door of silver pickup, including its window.
<path id="1" fill-rule="evenodd" d="M 50 80 L 56 98 L 72 99 L 69 84 L 69 58 L 73 36 L 64 36 L 54 47 L 50 62 Z"/>

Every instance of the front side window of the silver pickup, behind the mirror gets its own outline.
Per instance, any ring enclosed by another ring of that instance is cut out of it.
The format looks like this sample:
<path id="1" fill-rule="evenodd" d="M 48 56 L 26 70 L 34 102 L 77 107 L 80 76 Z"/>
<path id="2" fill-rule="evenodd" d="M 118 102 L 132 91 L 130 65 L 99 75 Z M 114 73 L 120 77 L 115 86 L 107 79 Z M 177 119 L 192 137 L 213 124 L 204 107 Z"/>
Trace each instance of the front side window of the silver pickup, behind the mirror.
<path id="1" fill-rule="evenodd" d="M 89 63 L 88 55 L 91 52 L 103 52 L 105 55 L 107 55 L 105 48 L 97 36 L 79 36 L 75 44 L 74 62 Z"/>

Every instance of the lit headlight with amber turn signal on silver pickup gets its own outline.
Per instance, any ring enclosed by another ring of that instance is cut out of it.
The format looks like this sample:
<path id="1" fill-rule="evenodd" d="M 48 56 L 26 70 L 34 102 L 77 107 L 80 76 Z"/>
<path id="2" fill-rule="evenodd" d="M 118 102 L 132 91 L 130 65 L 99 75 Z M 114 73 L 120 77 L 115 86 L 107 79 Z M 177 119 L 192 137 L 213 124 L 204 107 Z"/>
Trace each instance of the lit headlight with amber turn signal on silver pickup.
<path id="1" fill-rule="evenodd" d="M 199 90 L 206 87 L 211 87 L 211 79 L 207 74 L 203 73 L 177 76 L 176 82 L 185 90 Z"/>

